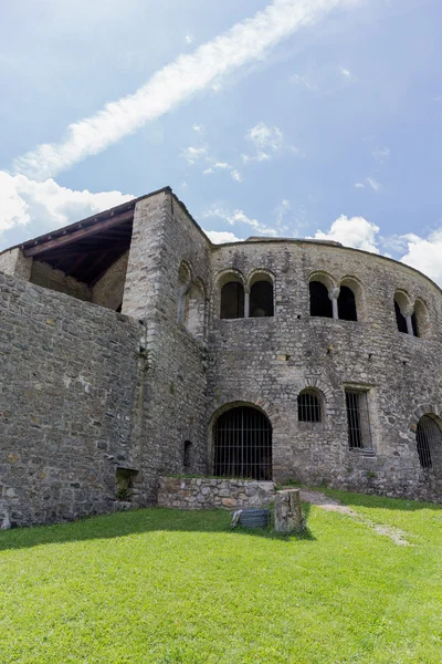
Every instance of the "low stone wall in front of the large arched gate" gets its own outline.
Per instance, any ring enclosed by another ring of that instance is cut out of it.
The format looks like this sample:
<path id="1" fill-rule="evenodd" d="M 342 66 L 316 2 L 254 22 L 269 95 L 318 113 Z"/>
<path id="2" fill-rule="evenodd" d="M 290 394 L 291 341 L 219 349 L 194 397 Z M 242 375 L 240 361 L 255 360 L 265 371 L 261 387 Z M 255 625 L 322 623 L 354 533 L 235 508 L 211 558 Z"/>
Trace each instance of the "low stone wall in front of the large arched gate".
<path id="1" fill-rule="evenodd" d="M 274 495 L 273 481 L 160 477 L 158 507 L 178 509 L 269 507 Z"/>

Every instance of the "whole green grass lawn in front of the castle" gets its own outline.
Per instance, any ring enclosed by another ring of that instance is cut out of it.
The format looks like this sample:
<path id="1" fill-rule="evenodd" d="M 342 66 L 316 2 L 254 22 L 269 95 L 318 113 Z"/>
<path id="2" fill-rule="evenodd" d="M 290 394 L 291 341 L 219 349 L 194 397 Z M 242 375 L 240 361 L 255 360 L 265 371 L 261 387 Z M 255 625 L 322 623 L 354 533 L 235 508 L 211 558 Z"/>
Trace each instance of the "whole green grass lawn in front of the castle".
<path id="1" fill-rule="evenodd" d="M 0 533 L 0 662 L 442 662 L 442 508 L 328 491 L 303 537 L 146 509 Z"/>

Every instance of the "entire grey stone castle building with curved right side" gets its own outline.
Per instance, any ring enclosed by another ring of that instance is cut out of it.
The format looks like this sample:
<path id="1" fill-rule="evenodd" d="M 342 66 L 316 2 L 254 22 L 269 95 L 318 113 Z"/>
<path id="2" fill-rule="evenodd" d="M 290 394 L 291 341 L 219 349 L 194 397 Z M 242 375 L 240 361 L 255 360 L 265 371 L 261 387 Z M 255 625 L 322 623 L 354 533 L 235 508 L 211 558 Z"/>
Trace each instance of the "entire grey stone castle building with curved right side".
<path id="1" fill-rule="evenodd" d="M 0 517 L 160 477 L 438 500 L 442 294 L 336 242 L 215 246 L 170 188 L 0 255 Z"/>

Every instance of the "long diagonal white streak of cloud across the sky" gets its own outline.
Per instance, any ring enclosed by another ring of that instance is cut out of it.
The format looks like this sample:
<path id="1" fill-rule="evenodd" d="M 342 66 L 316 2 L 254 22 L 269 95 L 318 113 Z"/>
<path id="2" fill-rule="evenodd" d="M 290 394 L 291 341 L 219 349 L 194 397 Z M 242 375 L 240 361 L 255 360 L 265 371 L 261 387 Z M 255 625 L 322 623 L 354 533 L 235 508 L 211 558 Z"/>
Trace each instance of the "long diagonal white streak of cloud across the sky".
<path id="1" fill-rule="evenodd" d="M 359 0 L 274 0 L 252 19 L 180 55 L 134 94 L 107 103 L 95 115 L 69 125 L 61 143 L 43 144 L 15 159 L 17 172 L 46 179 L 95 155 L 146 122 L 158 118 L 194 93 L 217 84 L 219 76 L 256 60 L 333 9 Z"/>

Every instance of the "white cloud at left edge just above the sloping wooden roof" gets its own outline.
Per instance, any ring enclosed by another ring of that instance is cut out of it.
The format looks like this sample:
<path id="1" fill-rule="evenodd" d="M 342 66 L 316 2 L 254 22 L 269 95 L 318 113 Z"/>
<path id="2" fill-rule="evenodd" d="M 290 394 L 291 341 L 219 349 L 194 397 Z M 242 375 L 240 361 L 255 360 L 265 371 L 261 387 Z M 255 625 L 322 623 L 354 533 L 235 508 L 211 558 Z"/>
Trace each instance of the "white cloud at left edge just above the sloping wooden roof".
<path id="1" fill-rule="evenodd" d="M 61 187 L 53 179 L 38 183 L 24 175 L 0 170 L 0 235 L 17 226 L 28 226 L 34 235 L 40 235 L 131 198 L 120 191 L 76 191 Z"/>

